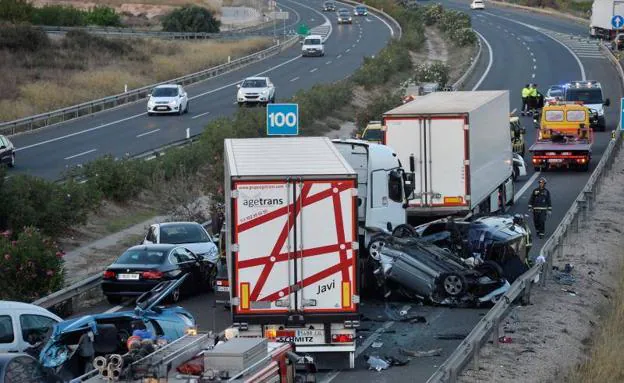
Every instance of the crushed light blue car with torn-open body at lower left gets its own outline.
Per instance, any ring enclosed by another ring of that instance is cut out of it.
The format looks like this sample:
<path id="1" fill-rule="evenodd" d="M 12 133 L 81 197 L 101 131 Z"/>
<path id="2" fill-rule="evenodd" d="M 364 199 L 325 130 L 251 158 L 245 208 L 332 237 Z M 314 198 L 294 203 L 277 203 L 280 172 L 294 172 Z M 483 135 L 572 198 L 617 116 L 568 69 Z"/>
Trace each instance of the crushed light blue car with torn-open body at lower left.
<path id="1" fill-rule="evenodd" d="M 162 282 L 144 293 L 134 311 L 86 315 L 56 324 L 39 353 L 39 362 L 70 380 L 92 369 L 97 356 L 127 353 L 126 343 L 135 330 L 169 342 L 182 337 L 195 328 L 193 316 L 182 307 L 158 304 L 187 277 Z"/>

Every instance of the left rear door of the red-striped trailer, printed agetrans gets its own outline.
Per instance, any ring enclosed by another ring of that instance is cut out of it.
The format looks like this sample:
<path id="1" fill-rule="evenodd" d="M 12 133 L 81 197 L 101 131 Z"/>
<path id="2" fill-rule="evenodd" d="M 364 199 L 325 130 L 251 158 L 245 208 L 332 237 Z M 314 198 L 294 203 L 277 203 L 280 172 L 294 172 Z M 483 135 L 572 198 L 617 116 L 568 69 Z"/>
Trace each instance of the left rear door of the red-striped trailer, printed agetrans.
<path id="1" fill-rule="evenodd" d="M 286 314 L 296 308 L 293 183 L 239 181 L 232 190 L 234 313 Z"/>

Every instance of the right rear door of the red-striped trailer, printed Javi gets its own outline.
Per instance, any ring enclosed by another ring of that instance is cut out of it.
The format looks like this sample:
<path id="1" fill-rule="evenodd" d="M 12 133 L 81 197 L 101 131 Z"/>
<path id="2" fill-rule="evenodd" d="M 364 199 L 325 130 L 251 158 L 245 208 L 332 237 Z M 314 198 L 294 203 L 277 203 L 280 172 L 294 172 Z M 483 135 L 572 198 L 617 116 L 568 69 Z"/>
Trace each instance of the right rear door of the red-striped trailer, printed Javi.
<path id="1" fill-rule="evenodd" d="M 297 310 L 357 311 L 356 180 L 297 183 Z M 308 319 L 309 321 L 309 319 Z"/>

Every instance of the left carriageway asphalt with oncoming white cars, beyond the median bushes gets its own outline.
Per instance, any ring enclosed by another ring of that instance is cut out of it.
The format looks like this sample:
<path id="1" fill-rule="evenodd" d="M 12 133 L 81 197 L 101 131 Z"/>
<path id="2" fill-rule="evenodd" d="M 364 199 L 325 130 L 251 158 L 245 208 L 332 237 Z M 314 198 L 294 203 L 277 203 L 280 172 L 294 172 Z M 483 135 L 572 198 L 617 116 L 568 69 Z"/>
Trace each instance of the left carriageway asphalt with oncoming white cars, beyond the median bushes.
<path id="1" fill-rule="evenodd" d="M 16 136 L 16 170 L 56 179 L 67 167 L 104 154 L 120 157 L 147 151 L 184 138 L 187 128 L 191 135 L 198 134 L 207 122 L 230 115 L 238 108 L 234 103 L 235 85 L 245 77 L 270 76 L 279 101 L 300 89 L 347 77 L 361 65 L 363 57 L 376 54 L 390 39 L 388 25 L 376 17 L 355 18 L 353 25 L 336 25 L 333 13 L 324 16 L 316 10 L 320 1 L 310 5 L 290 0 L 287 3 L 297 9 L 301 20 L 320 24 L 324 17 L 329 19 L 332 27 L 327 31 L 331 35 L 325 57 L 301 58 L 300 46 L 296 45 L 257 65 L 188 86 L 191 112 L 187 115 L 148 117 L 145 102 L 139 102 Z"/>

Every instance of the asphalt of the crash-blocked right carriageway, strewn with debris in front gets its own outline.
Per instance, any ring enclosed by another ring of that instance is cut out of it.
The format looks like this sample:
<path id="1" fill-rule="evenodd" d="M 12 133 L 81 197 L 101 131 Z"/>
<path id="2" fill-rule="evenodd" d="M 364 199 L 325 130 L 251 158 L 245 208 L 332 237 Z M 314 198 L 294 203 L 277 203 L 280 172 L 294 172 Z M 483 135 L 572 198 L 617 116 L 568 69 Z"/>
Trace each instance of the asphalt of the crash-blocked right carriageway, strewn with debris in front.
<path id="1" fill-rule="evenodd" d="M 477 65 L 477 70 L 466 89 L 472 89 L 477 85 L 477 89 L 480 90 L 509 89 L 511 107 L 519 109 L 520 89 L 528 82 L 539 84 L 540 89 L 545 91 L 551 84 L 582 79 L 584 72 L 586 79 L 602 83 L 605 96 L 611 99 L 613 106 L 607 108 L 607 132 L 595 134 L 594 158 L 590 171 L 593 170 L 610 139 L 609 131 L 616 128 L 619 120 L 617 105 L 622 96 L 622 89 L 615 80 L 616 73 L 606 59 L 575 57 L 570 50 L 531 26 L 582 36 L 586 34 L 587 28 L 562 19 L 491 5 L 487 5 L 488 8 L 484 12 L 471 12 L 468 9 L 468 1 L 445 1 L 443 4 L 470 12 L 475 30 L 487 41 L 484 43 L 484 54 Z M 528 148 L 534 141 L 535 130 L 530 118 L 523 117 L 522 122 L 527 128 Z M 529 160 L 530 156 L 527 155 L 525 158 Z M 547 235 L 552 233 L 563 218 L 585 185 L 589 174 L 589 172 L 565 171 L 541 174 L 547 178 L 547 187 L 553 195 L 554 210 L 552 218 L 547 223 Z M 529 167 L 528 176 L 516 183 L 517 202 L 511 212 L 526 213 L 528 195 L 530 190 L 536 187 L 538 176 L 539 174 Z M 535 240 L 533 256 L 538 254 L 544 241 L 545 239 Z M 212 295 L 208 294 L 189 298 L 183 305 L 196 316 L 200 327 L 219 331 L 229 324 L 229 318 L 222 309 L 215 309 L 212 302 Z M 397 312 L 406 308 L 410 309 L 410 314 L 423 316 L 426 323 L 407 324 L 395 321 Z M 102 305 L 94 308 L 100 312 L 107 309 L 111 309 L 111 306 Z M 360 341 L 364 345 L 370 345 L 371 340 L 378 337 L 377 339 L 383 343 L 382 346 L 380 348 L 360 346 L 355 370 L 323 373 L 318 377 L 319 381 L 424 382 L 471 331 L 486 309 L 451 309 L 419 306 L 409 302 L 365 301 L 361 311 L 365 319 L 358 333 L 361 336 Z M 440 336 L 451 339 L 441 340 Z M 438 357 L 415 358 L 405 367 L 391 367 L 380 373 L 367 370 L 365 355 L 393 355 L 399 347 L 419 351 L 441 348 L 442 352 Z"/>

